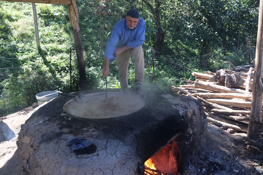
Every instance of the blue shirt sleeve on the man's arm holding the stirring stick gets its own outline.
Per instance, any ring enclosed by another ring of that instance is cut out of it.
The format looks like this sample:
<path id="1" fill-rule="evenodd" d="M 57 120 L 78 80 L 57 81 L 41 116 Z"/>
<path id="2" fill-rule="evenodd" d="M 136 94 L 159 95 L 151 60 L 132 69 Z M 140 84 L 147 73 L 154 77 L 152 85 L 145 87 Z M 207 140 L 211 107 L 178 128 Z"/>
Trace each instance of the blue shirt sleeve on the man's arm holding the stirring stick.
<path id="1" fill-rule="evenodd" d="M 116 45 L 119 41 L 119 25 L 114 25 L 112 34 L 110 35 L 109 41 L 107 43 L 104 56 L 110 60 L 110 63 L 114 61 L 114 50 L 116 49 Z"/>

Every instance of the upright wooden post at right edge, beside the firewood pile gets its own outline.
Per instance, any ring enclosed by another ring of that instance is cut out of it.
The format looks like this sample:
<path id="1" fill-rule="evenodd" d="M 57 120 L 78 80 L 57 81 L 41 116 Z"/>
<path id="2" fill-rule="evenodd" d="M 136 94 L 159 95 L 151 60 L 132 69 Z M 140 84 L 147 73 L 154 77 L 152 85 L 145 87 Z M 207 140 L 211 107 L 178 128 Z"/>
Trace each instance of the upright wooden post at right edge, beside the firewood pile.
<path id="1" fill-rule="evenodd" d="M 253 93 L 252 93 L 252 104 L 251 113 L 249 119 L 249 126 L 247 130 L 247 136 L 250 139 L 255 139 L 259 133 L 259 121 L 260 114 L 262 111 L 262 91 L 260 88 L 260 77 L 262 76 L 262 52 L 263 52 L 263 0 L 260 0 L 259 6 L 259 24 L 257 29 L 257 46 L 256 46 L 256 60 L 255 60 L 255 71 L 253 81 Z"/>

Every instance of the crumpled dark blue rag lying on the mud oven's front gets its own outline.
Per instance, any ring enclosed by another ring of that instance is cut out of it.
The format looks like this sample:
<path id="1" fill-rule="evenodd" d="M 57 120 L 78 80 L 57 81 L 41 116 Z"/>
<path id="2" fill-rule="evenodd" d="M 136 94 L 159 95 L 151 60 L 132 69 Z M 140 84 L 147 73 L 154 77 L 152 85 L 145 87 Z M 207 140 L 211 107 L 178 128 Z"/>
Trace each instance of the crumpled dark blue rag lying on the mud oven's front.
<path id="1" fill-rule="evenodd" d="M 88 141 L 84 138 L 79 138 L 79 137 L 73 137 L 71 139 L 69 139 L 68 143 L 66 144 L 66 146 L 70 146 L 69 150 L 70 151 L 74 151 L 74 150 L 78 150 L 81 148 L 85 148 L 88 147 L 90 145 L 92 145 L 93 143 L 91 141 Z"/>

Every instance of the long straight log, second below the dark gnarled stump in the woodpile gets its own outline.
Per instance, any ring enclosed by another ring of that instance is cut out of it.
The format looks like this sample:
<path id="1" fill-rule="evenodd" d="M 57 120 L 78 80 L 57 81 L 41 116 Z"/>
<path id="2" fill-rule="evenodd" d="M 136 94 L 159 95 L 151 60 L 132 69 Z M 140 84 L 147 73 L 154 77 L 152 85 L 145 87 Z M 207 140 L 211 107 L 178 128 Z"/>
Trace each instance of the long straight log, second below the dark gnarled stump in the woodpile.
<path id="1" fill-rule="evenodd" d="M 249 100 L 252 98 L 251 94 L 238 94 L 238 93 L 194 93 L 192 94 L 194 97 L 199 96 L 201 98 L 211 97 L 211 98 L 237 98 L 237 99 L 245 99 Z"/>

